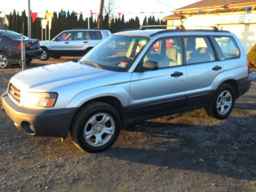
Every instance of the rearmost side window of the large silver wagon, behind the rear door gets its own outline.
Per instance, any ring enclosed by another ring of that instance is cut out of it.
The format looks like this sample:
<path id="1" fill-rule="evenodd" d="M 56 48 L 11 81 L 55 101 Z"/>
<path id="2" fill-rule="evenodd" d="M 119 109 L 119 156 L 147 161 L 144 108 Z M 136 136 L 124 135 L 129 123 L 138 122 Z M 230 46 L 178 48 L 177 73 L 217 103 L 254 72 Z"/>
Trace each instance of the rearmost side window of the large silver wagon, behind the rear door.
<path id="1" fill-rule="evenodd" d="M 226 59 L 238 58 L 240 56 L 240 50 L 237 42 L 233 37 L 228 36 L 215 36 L 215 40 L 218 42 L 221 51 Z"/>

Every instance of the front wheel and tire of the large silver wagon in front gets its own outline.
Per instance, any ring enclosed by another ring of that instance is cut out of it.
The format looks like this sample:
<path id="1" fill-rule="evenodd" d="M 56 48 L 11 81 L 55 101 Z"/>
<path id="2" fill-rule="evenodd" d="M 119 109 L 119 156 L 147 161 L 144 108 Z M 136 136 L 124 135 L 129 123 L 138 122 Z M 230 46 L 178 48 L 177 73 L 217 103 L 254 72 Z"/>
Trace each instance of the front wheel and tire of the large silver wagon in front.
<path id="1" fill-rule="evenodd" d="M 104 102 L 91 102 L 76 113 L 70 132 L 78 148 L 98 153 L 116 141 L 120 128 L 121 119 L 113 106 Z"/>

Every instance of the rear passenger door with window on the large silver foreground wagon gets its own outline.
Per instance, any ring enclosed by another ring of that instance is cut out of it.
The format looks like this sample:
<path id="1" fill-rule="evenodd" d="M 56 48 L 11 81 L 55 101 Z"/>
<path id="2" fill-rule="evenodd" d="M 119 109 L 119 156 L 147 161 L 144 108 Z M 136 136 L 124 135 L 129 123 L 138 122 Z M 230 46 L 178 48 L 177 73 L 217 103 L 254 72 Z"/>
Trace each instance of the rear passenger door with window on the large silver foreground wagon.
<path id="1" fill-rule="evenodd" d="M 187 69 L 186 107 L 207 104 L 224 69 L 208 36 L 183 37 Z"/>

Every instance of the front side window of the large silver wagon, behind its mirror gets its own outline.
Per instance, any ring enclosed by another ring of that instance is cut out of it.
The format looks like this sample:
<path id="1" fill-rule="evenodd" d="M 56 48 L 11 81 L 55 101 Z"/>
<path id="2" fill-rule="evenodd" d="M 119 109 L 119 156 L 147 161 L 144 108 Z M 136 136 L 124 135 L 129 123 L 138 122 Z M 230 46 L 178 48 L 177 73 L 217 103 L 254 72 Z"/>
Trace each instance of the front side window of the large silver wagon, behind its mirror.
<path id="1" fill-rule="evenodd" d="M 143 62 L 156 61 L 159 68 L 182 64 L 182 42 L 180 37 L 161 39 L 148 49 Z"/>

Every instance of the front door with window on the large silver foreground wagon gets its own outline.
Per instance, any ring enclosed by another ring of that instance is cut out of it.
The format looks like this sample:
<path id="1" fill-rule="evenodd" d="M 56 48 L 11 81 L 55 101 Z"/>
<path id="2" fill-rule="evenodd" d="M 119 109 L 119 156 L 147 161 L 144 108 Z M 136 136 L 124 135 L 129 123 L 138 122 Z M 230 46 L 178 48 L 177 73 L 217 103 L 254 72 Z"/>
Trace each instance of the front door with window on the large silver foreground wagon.
<path id="1" fill-rule="evenodd" d="M 158 63 L 159 69 L 133 72 L 130 118 L 162 116 L 183 108 L 187 74 L 182 55 L 180 37 L 161 39 L 148 49 L 139 65 L 151 60 Z"/>

